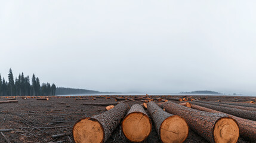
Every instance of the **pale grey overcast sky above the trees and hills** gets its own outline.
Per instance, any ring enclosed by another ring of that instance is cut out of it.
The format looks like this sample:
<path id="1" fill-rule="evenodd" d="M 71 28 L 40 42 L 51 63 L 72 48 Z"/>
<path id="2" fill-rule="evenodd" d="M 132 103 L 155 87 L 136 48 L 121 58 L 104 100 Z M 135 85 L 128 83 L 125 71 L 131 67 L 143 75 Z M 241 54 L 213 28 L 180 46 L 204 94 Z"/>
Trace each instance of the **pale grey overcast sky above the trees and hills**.
<path id="1" fill-rule="evenodd" d="M 0 73 L 98 91 L 256 94 L 255 1 L 1 1 Z"/>

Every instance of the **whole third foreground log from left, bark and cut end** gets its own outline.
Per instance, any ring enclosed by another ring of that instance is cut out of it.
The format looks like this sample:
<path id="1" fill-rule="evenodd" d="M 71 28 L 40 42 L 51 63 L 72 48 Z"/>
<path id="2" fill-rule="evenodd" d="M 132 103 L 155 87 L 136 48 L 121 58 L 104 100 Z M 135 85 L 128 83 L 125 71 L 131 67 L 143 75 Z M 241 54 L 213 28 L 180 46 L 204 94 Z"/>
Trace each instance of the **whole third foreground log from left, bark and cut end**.
<path id="1" fill-rule="evenodd" d="M 147 104 L 147 111 L 152 117 L 156 131 L 162 142 L 183 142 L 189 135 L 189 126 L 182 117 L 169 114 L 155 102 Z"/>

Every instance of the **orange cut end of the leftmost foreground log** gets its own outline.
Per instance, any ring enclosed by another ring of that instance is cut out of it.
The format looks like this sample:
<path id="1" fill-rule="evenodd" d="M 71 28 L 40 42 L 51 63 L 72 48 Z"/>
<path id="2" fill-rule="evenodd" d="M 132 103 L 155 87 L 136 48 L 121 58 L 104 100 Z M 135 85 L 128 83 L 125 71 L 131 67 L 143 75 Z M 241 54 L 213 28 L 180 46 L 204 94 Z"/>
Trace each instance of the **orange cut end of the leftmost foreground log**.
<path id="1" fill-rule="evenodd" d="M 78 120 L 78 122 L 73 126 L 73 138 L 76 143 L 103 142 L 103 126 L 100 122 L 90 117 Z"/>

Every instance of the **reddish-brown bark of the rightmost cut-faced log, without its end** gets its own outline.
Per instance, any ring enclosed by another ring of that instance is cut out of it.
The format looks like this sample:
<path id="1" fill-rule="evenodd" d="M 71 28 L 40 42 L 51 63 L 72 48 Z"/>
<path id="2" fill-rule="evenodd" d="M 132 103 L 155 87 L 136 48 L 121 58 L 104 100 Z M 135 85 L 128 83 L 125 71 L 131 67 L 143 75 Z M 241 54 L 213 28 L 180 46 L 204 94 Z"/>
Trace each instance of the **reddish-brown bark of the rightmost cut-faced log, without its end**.
<path id="1" fill-rule="evenodd" d="M 209 142 L 215 142 L 213 133 L 215 123 L 221 118 L 229 118 L 226 114 L 195 110 L 193 108 L 175 104 L 174 102 L 166 102 L 166 104 L 161 104 L 161 107 L 165 108 L 165 111 L 168 113 L 183 117 L 191 129 Z"/>

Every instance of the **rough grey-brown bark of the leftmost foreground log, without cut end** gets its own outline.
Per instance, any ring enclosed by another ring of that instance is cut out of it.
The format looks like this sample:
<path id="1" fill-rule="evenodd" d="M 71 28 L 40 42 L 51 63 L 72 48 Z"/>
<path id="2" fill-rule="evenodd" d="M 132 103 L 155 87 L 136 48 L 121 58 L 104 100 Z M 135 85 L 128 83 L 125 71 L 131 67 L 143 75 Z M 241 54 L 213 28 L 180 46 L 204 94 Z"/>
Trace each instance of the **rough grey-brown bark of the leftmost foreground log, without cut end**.
<path id="1" fill-rule="evenodd" d="M 98 122 L 100 122 L 102 128 L 104 129 L 103 142 L 107 141 L 107 139 L 110 137 L 113 130 L 115 130 L 116 127 L 119 125 L 121 120 L 124 118 L 125 113 L 127 113 L 128 108 L 129 108 L 128 105 L 122 102 L 119 102 L 119 104 L 116 105 L 115 108 L 112 108 L 111 110 L 108 110 L 102 114 L 92 116 L 90 118 L 92 120 L 97 120 Z M 84 119 L 88 119 L 88 118 L 86 117 Z M 78 122 L 80 122 L 81 120 L 83 119 L 78 120 Z M 76 122 L 73 127 L 73 135 L 74 135 L 74 128 L 78 122 Z"/>

